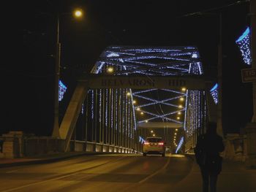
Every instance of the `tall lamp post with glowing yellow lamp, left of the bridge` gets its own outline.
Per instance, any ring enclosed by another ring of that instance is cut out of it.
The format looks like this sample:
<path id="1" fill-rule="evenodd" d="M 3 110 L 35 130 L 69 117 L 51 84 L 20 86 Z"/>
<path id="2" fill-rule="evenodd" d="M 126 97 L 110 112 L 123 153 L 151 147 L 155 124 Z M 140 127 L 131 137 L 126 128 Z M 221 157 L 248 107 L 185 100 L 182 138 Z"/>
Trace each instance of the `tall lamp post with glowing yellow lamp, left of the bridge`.
<path id="1" fill-rule="evenodd" d="M 61 15 L 69 15 L 70 13 L 63 13 Z M 73 12 L 75 18 L 81 18 L 83 16 L 82 9 L 75 9 Z M 59 76 L 61 66 L 61 43 L 59 42 L 59 16 L 57 14 L 57 26 L 56 26 L 56 65 L 55 65 L 55 80 L 54 80 L 54 121 L 53 121 L 53 134 L 52 137 L 59 137 Z"/>

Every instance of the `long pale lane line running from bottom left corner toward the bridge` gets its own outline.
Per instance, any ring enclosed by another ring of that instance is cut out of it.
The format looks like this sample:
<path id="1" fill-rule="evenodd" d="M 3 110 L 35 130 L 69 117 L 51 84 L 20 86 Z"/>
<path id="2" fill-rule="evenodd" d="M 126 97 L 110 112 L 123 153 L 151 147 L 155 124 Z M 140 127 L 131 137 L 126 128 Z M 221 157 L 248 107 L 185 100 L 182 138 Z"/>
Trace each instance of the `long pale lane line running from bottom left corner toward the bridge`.
<path id="1" fill-rule="evenodd" d="M 69 176 L 72 176 L 74 174 L 78 174 L 79 172 L 84 172 L 84 171 L 89 170 L 89 169 L 94 169 L 94 168 L 97 168 L 99 166 L 102 166 L 102 165 L 105 165 L 105 164 L 108 164 L 108 163 L 112 163 L 113 161 L 118 161 L 121 158 L 125 158 L 125 157 L 121 156 L 120 158 L 116 158 L 114 160 L 107 161 L 107 162 L 105 162 L 103 164 L 99 164 L 99 165 L 96 165 L 96 166 L 91 166 L 91 167 L 86 168 L 86 169 L 80 169 L 79 171 L 72 172 L 72 173 L 67 173 L 67 174 L 64 174 L 64 175 L 62 174 L 59 177 L 55 177 L 55 178 L 52 178 L 52 179 L 49 179 L 49 180 L 43 180 L 43 181 L 39 181 L 39 182 L 36 182 L 36 183 L 29 183 L 27 185 L 22 185 L 22 186 L 17 187 L 17 188 L 10 188 L 10 189 L 7 189 L 7 190 L 2 191 L 2 192 L 16 191 L 16 190 L 19 190 L 21 188 L 27 188 L 27 187 L 30 187 L 30 186 L 33 186 L 33 185 L 39 185 L 39 184 L 47 183 L 47 182 L 53 181 L 53 180 L 60 180 L 60 179 L 62 179 L 64 177 L 69 177 Z"/>

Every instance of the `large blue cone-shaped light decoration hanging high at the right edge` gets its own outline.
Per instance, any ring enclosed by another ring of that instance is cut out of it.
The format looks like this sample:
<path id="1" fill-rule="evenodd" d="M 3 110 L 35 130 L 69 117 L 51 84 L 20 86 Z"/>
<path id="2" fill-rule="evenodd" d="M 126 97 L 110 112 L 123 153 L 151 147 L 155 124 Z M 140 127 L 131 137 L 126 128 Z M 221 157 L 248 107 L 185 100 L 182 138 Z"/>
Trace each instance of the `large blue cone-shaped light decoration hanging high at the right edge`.
<path id="1" fill-rule="evenodd" d="M 245 64 L 250 65 L 252 63 L 252 55 L 250 50 L 250 30 L 249 27 L 246 28 L 244 33 L 236 40 L 236 45 L 238 45 L 243 61 Z"/>

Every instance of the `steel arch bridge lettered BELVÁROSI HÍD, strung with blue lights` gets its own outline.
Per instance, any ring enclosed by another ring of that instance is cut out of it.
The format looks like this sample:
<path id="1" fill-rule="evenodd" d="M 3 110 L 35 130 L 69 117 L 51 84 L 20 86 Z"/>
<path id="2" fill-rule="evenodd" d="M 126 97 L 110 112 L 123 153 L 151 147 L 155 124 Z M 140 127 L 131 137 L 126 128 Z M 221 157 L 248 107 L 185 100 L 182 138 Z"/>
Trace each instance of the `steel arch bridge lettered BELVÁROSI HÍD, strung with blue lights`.
<path id="1" fill-rule="evenodd" d="M 200 77 L 197 47 L 110 46 L 79 78 L 53 136 L 66 139 L 66 151 L 72 139 L 94 143 L 95 151 L 140 151 L 153 134 L 172 151 L 189 150 L 214 101 Z"/>

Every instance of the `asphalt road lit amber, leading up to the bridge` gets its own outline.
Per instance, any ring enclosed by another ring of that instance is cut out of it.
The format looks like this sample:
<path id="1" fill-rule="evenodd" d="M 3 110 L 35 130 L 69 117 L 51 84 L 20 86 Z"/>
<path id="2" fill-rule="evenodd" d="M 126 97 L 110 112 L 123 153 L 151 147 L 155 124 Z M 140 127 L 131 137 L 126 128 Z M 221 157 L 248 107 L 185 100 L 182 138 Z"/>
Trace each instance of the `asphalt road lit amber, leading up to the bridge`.
<path id="1" fill-rule="evenodd" d="M 87 155 L 0 169 L 0 191 L 170 191 L 192 169 L 183 155 Z"/>

